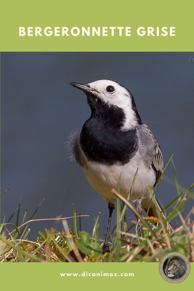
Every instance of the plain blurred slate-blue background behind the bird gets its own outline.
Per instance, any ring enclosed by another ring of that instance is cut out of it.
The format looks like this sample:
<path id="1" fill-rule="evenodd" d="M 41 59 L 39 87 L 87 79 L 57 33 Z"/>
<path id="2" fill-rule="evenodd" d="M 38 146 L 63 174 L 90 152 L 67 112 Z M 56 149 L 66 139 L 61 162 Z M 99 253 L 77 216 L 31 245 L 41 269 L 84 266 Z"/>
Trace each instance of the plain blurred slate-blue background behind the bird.
<path id="1" fill-rule="evenodd" d="M 174 152 L 180 185 L 189 187 L 194 182 L 191 56 L 194 53 L 1 52 L 1 193 L 10 187 L 1 198 L 1 221 L 17 208 L 20 195 L 20 223 L 25 210 L 28 219 L 45 197 L 34 218 L 72 216 L 75 203 L 77 214 L 90 215 L 82 218 L 83 230 L 92 232 L 100 211 L 99 232 L 106 231 L 106 202 L 69 160 L 68 135 L 80 129 L 90 109 L 84 93 L 68 82 L 109 79 L 127 87 L 141 119 L 159 141 L 164 164 Z M 156 192 L 164 206 L 177 197 L 171 164 L 165 176 Z M 185 212 L 192 206 L 193 201 Z M 134 219 L 130 211 L 127 218 Z M 72 219 L 68 224 L 73 227 Z M 32 222 L 29 227 L 28 238 L 35 239 L 38 230 L 60 230 L 62 222 Z"/>

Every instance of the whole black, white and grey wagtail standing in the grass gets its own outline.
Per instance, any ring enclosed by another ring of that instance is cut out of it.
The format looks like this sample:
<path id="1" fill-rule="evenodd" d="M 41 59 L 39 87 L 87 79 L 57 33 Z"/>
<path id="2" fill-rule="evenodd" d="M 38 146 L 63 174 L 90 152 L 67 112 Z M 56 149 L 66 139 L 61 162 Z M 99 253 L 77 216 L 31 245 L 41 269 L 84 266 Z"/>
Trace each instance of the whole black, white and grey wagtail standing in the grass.
<path id="1" fill-rule="evenodd" d="M 91 116 L 81 130 L 71 135 L 72 156 L 75 157 L 90 185 L 108 202 L 109 221 L 103 253 L 109 251 L 107 240 L 114 210 L 115 196 L 120 181 L 120 194 L 127 198 L 138 168 L 131 200 L 137 210 L 147 212 L 153 188 L 163 171 L 160 146 L 139 116 L 134 98 L 122 85 L 110 80 L 89 84 L 69 83 L 82 90 L 88 100 Z M 161 207 L 159 206 L 161 210 Z M 157 216 L 151 202 L 148 216 Z"/>

